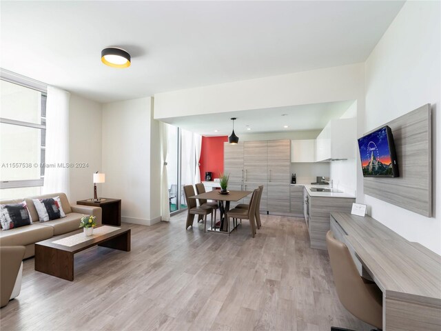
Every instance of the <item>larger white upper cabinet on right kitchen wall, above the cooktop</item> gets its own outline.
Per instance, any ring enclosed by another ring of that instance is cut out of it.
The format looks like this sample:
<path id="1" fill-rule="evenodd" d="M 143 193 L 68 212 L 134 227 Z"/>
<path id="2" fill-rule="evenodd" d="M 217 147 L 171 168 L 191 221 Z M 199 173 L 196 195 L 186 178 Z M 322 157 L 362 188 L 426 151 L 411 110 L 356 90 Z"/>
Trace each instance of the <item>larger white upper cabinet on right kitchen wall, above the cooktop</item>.
<path id="1" fill-rule="evenodd" d="M 316 139 L 316 161 L 356 157 L 356 119 L 333 119 Z"/>

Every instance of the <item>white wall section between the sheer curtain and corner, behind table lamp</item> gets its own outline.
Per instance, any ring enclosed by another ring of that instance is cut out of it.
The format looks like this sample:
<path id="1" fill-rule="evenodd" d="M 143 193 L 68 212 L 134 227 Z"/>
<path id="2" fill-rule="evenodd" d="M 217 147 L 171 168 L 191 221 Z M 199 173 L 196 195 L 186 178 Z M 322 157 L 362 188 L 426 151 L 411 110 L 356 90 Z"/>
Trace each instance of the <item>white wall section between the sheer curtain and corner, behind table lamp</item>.
<path id="1" fill-rule="evenodd" d="M 71 163 L 88 163 L 86 168 L 70 169 L 71 204 L 93 197 L 92 174 L 101 171 L 101 103 L 70 94 L 69 145 Z M 98 184 L 98 194 L 101 195 Z"/>

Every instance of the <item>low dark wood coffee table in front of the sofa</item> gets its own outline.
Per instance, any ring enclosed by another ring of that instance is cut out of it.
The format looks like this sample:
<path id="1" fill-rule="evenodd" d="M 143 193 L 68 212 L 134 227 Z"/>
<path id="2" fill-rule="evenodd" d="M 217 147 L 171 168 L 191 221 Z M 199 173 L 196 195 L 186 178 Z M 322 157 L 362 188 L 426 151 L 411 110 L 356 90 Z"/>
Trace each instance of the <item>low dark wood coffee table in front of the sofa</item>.
<path id="1" fill-rule="evenodd" d="M 105 226 L 110 227 L 110 225 Z M 130 252 L 130 229 L 123 228 L 119 228 L 106 234 L 100 234 L 97 237 L 92 237 L 72 246 L 54 243 L 54 241 L 71 237 L 74 234 L 81 234 L 81 232 L 83 232 L 82 229 L 36 243 L 35 270 L 68 281 L 73 281 L 75 253 L 86 250 L 94 245 Z"/>

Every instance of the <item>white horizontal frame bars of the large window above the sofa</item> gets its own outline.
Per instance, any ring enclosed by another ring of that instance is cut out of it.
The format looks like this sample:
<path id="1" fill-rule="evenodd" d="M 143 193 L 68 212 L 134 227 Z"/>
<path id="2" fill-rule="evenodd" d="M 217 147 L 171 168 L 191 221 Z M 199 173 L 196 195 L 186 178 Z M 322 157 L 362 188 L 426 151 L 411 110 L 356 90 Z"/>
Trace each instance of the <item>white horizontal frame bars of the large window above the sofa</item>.
<path id="1" fill-rule="evenodd" d="M 35 79 L 31 79 L 28 77 L 21 76 L 21 74 L 16 74 L 15 72 L 11 72 L 9 70 L 5 70 L 0 68 L 0 79 L 2 81 L 8 81 L 9 83 L 13 83 L 16 85 L 23 86 L 25 88 L 31 88 L 32 90 L 37 90 L 42 92 L 43 94 L 47 94 L 48 86 L 41 81 L 36 81 Z M 13 126 L 24 126 L 27 128 L 36 128 L 45 130 L 46 126 L 43 124 L 30 123 L 25 121 L 17 121 L 14 119 L 4 119 L 0 117 L 0 123 L 11 124 Z M 45 146 L 40 146 L 41 149 L 45 149 Z M 0 189 L 5 188 L 33 188 L 43 186 L 44 184 L 44 176 L 41 176 L 40 179 L 25 179 L 19 181 L 0 181 Z"/>

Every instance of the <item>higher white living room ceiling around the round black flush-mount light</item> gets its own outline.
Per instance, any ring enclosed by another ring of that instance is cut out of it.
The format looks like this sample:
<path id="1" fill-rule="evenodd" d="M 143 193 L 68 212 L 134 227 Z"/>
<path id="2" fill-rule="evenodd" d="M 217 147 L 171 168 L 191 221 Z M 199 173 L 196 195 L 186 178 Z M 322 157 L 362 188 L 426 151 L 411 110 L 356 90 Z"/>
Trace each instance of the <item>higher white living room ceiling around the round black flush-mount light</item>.
<path id="1" fill-rule="evenodd" d="M 1 68 L 108 102 L 365 61 L 404 1 L 1 1 Z M 132 66 L 101 63 L 119 46 Z"/>

